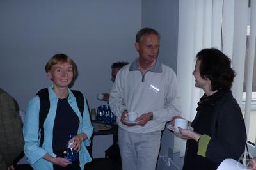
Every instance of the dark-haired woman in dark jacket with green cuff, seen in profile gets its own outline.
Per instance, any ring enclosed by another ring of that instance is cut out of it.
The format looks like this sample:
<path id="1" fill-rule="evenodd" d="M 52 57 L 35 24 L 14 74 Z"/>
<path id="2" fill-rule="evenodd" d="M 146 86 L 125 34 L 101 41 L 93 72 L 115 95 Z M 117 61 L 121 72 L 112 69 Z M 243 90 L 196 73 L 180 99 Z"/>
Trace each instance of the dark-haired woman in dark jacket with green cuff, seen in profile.
<path id="1" fill-rule="evenodd" d="M 239 160 L 246 145 L 243 115 L 230 90 L 236 73 L 223 52 L 203 49 L 196 55 L 193 75 L 195 86 L 205 94 L 189 123 L 194 130 L 175 132 L 188 139 L 183 169 L 217 169 L 226 158 Z"/>

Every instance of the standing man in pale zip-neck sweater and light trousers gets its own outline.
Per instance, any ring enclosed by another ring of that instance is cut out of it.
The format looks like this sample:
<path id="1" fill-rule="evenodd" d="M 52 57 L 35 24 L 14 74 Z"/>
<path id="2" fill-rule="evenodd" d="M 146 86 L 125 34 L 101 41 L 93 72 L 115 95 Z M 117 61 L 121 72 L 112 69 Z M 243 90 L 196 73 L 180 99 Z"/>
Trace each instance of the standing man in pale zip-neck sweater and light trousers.
<path id="1" fill-rule="evenodd" d="M 156 168 L 161 131 L 180 113 L 175 72 L 157 59 L 159 38 L 154 29 L 138 31 L 135 48 L 139 57 L 118 71 L 110 92 L 124 170 Z M 138 112 L 136 122 L 127 122 L 128 112 Z"/>

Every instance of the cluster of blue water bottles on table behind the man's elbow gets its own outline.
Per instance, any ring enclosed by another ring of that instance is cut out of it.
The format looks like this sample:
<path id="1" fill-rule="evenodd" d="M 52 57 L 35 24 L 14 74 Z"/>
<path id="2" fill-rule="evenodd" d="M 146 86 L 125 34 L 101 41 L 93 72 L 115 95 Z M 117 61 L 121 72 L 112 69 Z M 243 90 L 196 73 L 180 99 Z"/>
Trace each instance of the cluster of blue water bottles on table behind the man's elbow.
<path id="1" fill-rule="evenodd" d="M 106 105 L 100 105 L 97 109 L 96 119 L 104 123 L 113 123 L 116 121 L 116 116 L 111 112 L 109 105 L 108 107 Z"/>

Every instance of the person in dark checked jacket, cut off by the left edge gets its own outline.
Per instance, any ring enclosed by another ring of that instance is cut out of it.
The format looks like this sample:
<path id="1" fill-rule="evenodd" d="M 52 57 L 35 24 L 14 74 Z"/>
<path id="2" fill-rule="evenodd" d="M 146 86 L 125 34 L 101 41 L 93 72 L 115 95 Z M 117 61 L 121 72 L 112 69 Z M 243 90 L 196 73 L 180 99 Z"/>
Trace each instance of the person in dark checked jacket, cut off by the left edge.
<path id="1" fill-rule="evenodd" d="M 0 169 L 13 170 L 13 161 L 22 153 L 22 121 L 15 100 L 0 88 Z"/>

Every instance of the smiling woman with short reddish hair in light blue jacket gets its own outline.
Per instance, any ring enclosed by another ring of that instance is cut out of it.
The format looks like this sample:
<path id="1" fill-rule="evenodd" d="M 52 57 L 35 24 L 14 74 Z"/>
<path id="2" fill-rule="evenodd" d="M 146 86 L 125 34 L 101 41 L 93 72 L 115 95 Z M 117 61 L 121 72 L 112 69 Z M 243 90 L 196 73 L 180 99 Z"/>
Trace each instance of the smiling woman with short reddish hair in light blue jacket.
<path id="1" fill-rule="evenodd" d="M 40 98 L 36 95 L 26 110 L 24 153 L 34 169 L 84 169 L 84 164 L 92 160 L 86 146 L 90 145 L 93 127 L 86 102 L 80 112 L 76 97 L 68 88 L 76 76 L 76 64 L 67 55 L 56 54 L 45 65 L 45 72 L 53 86 L 47 88 L 51 104 L 44 121 L 44 143 L 38 146 Z M 74 150 L 79 151 L 79 160 L 74 162 L 65 158 L 68 134 L 74 135 L 70 141 L 74 141 Z"/>

